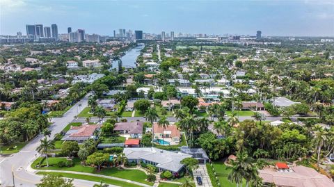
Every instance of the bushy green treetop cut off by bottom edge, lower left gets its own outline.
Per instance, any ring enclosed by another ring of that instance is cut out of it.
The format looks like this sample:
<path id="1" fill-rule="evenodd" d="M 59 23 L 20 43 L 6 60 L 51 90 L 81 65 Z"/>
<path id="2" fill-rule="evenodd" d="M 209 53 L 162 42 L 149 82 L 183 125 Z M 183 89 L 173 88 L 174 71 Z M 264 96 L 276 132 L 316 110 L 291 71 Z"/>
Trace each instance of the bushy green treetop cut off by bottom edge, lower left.
<path id="1" fill-rule="evenodd" d="M 74 187 L 73 179 L 64 179 L 54 174 L 44 175 L 37 187 Z"/>

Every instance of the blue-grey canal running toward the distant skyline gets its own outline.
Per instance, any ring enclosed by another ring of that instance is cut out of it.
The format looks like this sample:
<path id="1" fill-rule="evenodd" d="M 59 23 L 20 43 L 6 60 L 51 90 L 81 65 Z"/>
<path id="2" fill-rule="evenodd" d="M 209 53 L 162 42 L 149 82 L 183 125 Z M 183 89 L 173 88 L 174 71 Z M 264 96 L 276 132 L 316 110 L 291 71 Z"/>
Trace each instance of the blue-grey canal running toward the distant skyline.
<path id="1" fill-rule="evenodd" d="M 136 47 L 129 49 L 125 55 L 120 58 L 122 60 L 122 67 L 133 68 L 136 67 L 137 57 L 141 54 L 144 44 L 138 44 Z M 118 60 L 113 61 L 113 68 L 118 69 Z"/>

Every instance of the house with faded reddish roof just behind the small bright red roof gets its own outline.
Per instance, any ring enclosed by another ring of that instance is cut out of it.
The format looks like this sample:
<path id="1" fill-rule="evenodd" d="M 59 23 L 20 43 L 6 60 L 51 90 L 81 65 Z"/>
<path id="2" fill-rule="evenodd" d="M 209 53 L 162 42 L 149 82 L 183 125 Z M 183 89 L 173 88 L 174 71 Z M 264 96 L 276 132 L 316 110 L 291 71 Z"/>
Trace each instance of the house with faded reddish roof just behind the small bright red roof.
<path id="1" fill-rule="evenodd" d="M 119 122 L 115 124 L 113 131 L 120 134 L 129 134 L 131 138 L 143 136 L 143 122 Z"/>

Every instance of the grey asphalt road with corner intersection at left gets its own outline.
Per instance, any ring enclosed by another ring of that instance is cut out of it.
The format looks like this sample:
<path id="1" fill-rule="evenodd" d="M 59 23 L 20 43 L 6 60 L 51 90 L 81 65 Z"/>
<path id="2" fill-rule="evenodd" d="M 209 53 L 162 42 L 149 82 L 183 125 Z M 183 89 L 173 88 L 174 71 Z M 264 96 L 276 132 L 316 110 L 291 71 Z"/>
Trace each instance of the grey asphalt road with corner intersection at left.
<path id="1" fill-rule="evenodd" d="M 70 108 L 63 117 L 52 118 L 53 123 L 51 127 L 49 127 L 51 130 L 51 139 L 54 138 L 56 133 L 61 132 L 68 123 L 72 122 L 74 116 L 87 106 L 88 95 Z M 36 152 L 35 149 L 40 145 L 40 139 L 42 138 L 42 135 L 37 136 L 23 147 L 20 152 L 0 158 L 0 186 L 13 186 L 13 176 L 15 186 L 30 187 L 38 184 L 41 177 L 33 172 L 29 172 L 29 165 L 38 156 L 38 152 Z M 93 184 L 95 183 L 90 181 L 74 180 L 74 185 L 79 187 L 90 187 L 93 186 Z"/>

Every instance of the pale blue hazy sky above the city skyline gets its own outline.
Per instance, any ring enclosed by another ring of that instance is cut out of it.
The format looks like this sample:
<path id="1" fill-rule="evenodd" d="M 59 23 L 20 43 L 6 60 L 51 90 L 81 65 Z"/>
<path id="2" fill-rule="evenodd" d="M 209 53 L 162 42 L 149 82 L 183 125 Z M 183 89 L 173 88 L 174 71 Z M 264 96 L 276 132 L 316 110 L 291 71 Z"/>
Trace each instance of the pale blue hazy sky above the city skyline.
<path id="1" fill-rule="evenodd" d="M 26 24 L 144 33 L 334 36 L 334 0 L 0 0 L 0 34 L 26 34 Z"/>

